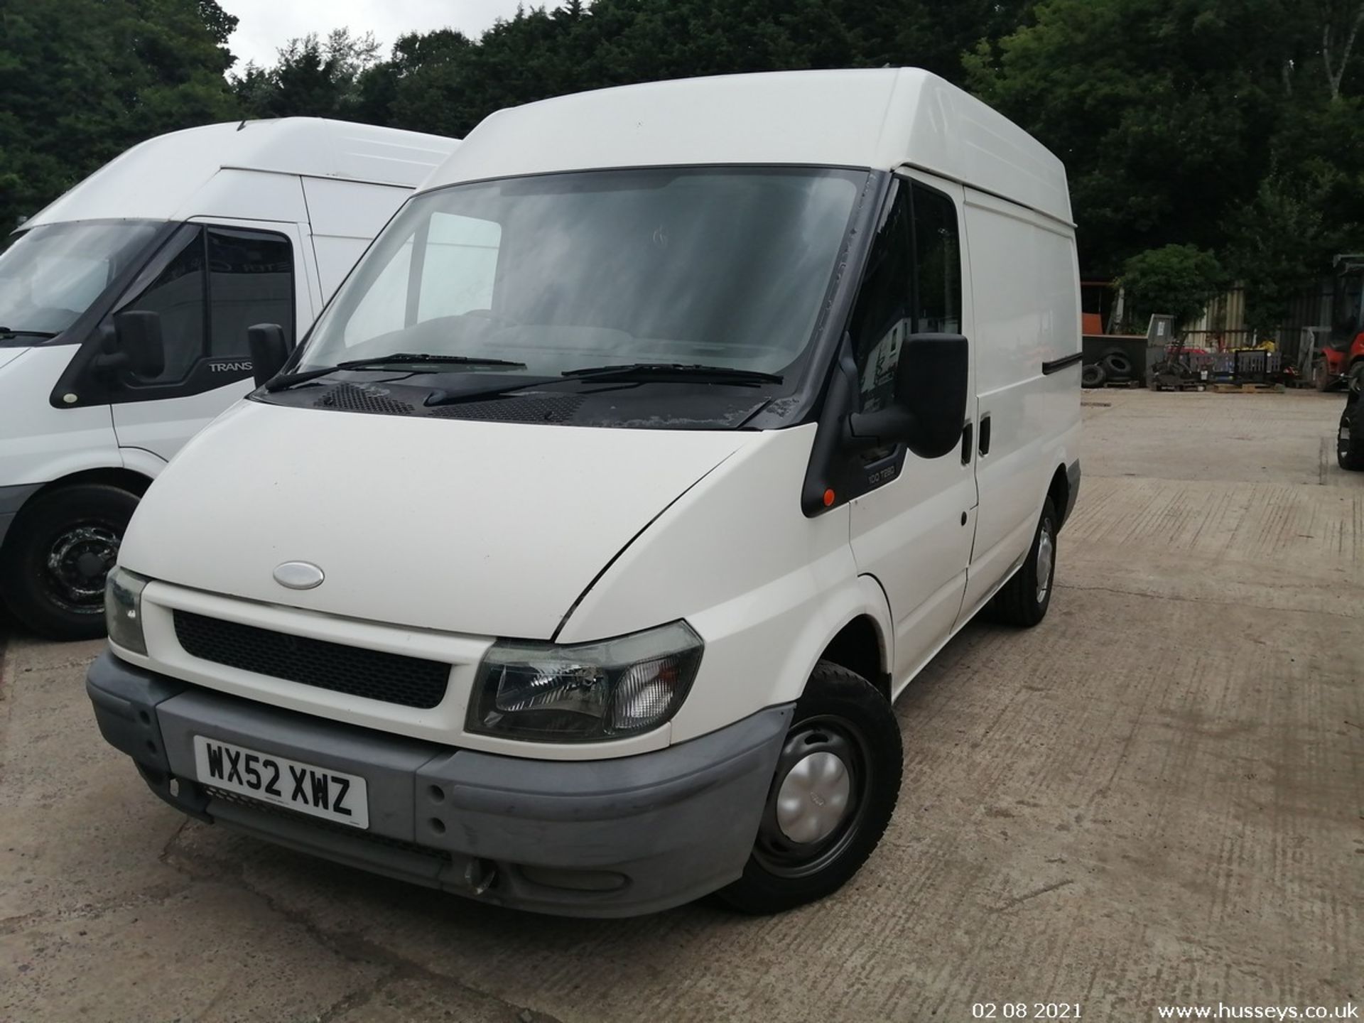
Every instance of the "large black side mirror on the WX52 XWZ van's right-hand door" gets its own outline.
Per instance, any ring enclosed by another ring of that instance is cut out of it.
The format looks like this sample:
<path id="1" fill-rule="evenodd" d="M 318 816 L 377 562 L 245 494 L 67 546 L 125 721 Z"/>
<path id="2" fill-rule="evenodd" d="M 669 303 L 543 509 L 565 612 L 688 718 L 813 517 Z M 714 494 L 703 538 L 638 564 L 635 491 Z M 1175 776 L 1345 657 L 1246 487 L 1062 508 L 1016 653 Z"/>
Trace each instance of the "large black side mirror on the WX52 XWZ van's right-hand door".
<path id="1" fill-rule="evenodd" d="M 971 352 L 960 334 L 913 334 L 900 345 L 892 404 L 848 417 L 858 447 L 904 443 L 941 458 L 962 442 Z"/>

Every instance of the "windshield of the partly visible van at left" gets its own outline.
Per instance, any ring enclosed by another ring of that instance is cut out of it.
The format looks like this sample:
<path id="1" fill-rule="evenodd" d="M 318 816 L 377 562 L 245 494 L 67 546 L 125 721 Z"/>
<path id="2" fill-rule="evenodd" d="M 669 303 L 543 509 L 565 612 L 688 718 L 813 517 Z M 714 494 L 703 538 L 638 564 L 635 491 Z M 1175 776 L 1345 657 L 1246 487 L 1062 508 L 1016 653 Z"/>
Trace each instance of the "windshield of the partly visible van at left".
<path id="1" fill-rule="evenodd" d="M 155 232 L 153 221 L 26 231 L 0 252 L 0 345 L 33 345 L 70 327 Z"/>

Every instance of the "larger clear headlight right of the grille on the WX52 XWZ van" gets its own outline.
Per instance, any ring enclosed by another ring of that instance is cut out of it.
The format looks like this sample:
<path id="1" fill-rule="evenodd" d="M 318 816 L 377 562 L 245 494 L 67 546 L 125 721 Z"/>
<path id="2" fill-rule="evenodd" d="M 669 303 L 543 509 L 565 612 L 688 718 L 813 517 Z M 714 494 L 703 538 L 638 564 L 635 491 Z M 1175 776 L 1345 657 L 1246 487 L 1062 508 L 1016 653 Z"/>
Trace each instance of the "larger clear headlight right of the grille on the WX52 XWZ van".
<path id="1" fill-rule="evenodd" d="M 686 622 L 578 647 L 499 641 L 473 682 L 465 727 L 542 742 L 596 742 L 663 724 L 701 664 Z"/>

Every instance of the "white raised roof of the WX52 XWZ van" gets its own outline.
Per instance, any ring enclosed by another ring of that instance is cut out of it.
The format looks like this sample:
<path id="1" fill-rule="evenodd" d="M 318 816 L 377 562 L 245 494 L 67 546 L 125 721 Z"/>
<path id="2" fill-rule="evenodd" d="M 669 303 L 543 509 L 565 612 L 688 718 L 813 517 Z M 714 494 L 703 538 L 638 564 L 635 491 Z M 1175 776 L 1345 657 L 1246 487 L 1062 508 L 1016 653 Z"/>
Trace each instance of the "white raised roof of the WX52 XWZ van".
<path id="1" fill-rule="evenodd" d="M 1071 222 L 1042 143 L 928 71 L 780 71 L 621 86 L 498 110 L 424 187 L 611 166 L 911 165 Z"/>

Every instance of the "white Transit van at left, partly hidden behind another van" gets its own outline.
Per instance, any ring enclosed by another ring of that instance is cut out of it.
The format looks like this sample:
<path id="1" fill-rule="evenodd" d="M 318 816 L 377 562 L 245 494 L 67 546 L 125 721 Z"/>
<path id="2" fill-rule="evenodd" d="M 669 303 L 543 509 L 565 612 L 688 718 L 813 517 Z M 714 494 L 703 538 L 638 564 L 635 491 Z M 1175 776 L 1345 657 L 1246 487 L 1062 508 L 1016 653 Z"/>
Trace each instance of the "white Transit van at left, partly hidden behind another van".
<path id="1" fill-rule="evenodd" d="M 0 597 L 18 618 L 104 633 L 138 496 L 251 389 L 247 326 L 301 336 L 456 145 L 315 119 L 191 128 L 19 228 L 0 254 Z"/>

